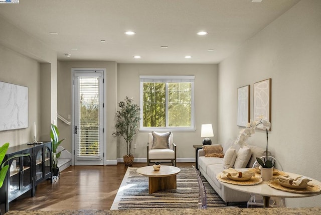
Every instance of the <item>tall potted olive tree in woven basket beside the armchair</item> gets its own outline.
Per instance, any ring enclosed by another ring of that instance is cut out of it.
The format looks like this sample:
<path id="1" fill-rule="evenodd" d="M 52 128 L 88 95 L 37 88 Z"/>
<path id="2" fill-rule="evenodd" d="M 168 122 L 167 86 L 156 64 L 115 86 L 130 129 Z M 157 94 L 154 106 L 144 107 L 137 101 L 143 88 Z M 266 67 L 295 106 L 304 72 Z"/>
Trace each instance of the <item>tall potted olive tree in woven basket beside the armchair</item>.
<path id="1" fill-rule="evenodd" d="M 122 136 L 126 141 L 127 154 L 123 156 L 126 166 L 132 166 L 134 156 L 131 154 L 131 144 L 134 136 L 138 132 L 139 106 L 133 103 L 133 99 L 126 96 L 118 103 L 119 110 L 116 113 L 116 125 L 112 135 Z"/>

